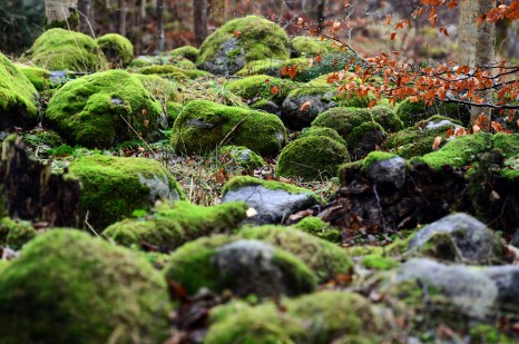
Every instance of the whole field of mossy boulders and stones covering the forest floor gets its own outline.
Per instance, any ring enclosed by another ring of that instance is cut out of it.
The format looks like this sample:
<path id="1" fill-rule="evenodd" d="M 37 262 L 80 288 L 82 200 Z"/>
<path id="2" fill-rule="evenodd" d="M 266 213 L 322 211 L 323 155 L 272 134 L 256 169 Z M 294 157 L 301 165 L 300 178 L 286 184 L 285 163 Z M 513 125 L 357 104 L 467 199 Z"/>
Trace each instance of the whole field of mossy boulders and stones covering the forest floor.
<path id="1" fill-rule="evenodd" d="M 258 17 L 0 55 L 0 342 L 516 343 L 516 121 L 370 108 L 351 58 Z"/>

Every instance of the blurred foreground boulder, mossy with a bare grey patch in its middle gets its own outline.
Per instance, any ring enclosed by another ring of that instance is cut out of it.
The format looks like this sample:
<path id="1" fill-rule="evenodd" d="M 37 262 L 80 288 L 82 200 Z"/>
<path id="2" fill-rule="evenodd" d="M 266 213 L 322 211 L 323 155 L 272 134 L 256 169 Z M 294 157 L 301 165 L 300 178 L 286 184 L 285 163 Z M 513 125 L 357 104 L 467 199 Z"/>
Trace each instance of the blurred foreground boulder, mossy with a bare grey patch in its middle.
<path id="1" fill-rule="evenodd" d="M 231 289 L 238 296 L 300 295 L 315 289 L 315 276 L 294 255 L 272 245 L 228 236 L 200 238 L 178 248 L 164 269 L 186 288 Z"/>

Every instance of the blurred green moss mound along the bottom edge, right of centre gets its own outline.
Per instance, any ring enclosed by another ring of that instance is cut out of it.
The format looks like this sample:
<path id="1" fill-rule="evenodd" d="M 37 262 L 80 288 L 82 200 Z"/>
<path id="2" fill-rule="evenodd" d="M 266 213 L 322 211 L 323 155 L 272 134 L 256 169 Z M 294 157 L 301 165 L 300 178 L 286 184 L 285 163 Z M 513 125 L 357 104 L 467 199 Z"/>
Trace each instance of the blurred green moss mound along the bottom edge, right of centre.
<path id="1" fill-rule="evenodd" d="M 324 344 L 343 335 L 381 342 L 378 335 L 383 334 L 384 321 L 376 307 L 359 294 L 326 291 L 281 303 L 286 311 L 280 311 L 274 303 L 214 308 L 205 343 Z"/>

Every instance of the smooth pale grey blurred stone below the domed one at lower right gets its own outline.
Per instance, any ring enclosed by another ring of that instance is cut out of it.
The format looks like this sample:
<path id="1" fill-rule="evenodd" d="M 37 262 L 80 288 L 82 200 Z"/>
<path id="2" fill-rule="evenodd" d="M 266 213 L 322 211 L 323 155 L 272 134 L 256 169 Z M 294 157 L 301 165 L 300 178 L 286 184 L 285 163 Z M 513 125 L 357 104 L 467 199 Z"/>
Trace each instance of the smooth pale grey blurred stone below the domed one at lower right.
<path id="1" fill-rule="evenodd" d="M 498 299 L 498 287 L 483 272 L 463 265 L 448 266 L 425 258 L 413 258 L 396 272 L 396 284 L 407 281 L 433 287 L 457 306 L 454 312 L 484 317 Z M 419 287 L 419 285 L 417 285 Z"/>

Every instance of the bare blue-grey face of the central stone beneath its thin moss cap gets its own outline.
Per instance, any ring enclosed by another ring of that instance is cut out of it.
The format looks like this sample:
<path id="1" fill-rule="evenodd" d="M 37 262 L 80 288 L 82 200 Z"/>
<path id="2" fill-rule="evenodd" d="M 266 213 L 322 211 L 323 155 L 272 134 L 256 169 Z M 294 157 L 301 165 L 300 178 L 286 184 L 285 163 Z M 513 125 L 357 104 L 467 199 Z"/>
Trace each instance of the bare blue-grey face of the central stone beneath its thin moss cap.
<path id="1" fill-rule="evenodd" d="M 315 196 L 307 194 L 290 194 L 283 189 L 271 190 L 262 185 L 247 185 L 229 190 L 222 203 L 243 200 L 257 215 L 246 220 L 249 224 L 280 224 L 288 215 L 307 209 L 316 204 Z"/>

